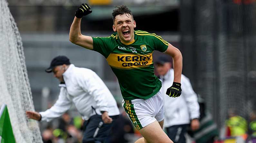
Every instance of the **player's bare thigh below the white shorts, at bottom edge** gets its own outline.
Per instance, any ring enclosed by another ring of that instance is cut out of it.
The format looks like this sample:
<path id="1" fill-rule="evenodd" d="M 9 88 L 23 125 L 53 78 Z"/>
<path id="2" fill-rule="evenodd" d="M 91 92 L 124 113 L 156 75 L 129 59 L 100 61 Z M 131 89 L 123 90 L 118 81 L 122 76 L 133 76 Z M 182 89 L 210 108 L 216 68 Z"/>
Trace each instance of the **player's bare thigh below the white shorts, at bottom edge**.
<path id="1" fill-rule="evenodd" d="M 173 143 L 157 121 L 140 129 L 139 132 L 147 140 L 148 143 Z"/>

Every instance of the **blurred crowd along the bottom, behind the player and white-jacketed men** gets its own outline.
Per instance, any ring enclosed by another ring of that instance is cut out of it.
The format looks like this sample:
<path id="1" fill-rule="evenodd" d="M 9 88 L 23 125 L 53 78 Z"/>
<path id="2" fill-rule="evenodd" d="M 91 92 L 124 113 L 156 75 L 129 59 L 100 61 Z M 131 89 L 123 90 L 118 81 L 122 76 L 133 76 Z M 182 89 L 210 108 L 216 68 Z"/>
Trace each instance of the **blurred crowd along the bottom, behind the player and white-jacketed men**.
<path id="1" fill-rule="evenodd" d="M 252 111 L 246 120 L 237 114 L 233 108 L 228 111 L 228 119 L 225 123 L 225 139 L 219 138 L 216 124 L 211 114 L 206 110 L 204 100 L 198 99 L 200 105 L 200 128 L 197 131 L 188 131 L 189 141 L 192 143 L 256 143 L 256 112 Z M 107 143 L 132 143 L 141 135 L 131 124 L 122 107 L 119 107 L 121 115 L 114 123 Z M 214 127 L 213 127 L 214 125 Z M 58 120 L 47 123 L 42 131 L 43 143 L 81 143 L 83 120 L 81 116 L 71 117 L 66 112 Z M 189 129 L 188 129 L 189 130 Z M 208 131 L 200 136 L 200 131 Z M 240 141 L 239 141 L 240 140 Z"/>

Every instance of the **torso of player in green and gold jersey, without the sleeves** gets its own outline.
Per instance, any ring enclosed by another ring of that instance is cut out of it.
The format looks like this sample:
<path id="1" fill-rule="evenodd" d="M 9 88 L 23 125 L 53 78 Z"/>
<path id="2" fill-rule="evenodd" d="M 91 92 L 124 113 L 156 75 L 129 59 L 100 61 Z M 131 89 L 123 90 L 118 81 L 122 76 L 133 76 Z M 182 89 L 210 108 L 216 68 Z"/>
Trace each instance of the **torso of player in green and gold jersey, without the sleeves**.
<path id="1" fill-rule="evenodd" d="M 161 82 L 154 74 L 155 47 L 151 39 L 135 35 L 134 42 L 123 44 L 118 35 L 112 38 L 113 47 L 107 61 L 118 78 L 123 98 L 148 99 L 155 95 Z"/>

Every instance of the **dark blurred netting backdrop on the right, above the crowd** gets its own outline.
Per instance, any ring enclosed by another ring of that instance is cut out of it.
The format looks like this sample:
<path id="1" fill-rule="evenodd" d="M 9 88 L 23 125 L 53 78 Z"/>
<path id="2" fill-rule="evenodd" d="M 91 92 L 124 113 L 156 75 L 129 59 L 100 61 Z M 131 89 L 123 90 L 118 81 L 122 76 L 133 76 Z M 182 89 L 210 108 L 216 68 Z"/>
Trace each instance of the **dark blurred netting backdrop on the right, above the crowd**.
<path id="1" fill-rule="evenodd" d="M 256 109 L 255 22 L 255 1 L 181 1 L 183 71 L 219 127 Z"/>

